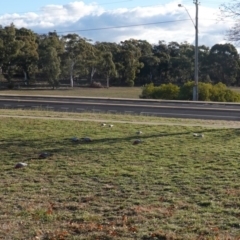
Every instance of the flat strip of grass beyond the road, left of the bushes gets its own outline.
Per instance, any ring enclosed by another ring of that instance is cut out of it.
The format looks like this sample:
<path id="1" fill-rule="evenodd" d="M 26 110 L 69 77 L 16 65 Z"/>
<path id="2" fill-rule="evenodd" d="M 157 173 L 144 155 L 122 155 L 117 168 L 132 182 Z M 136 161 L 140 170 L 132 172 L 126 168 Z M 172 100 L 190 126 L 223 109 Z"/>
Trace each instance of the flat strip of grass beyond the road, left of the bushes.
<path id="1" fill-rule="evenodd" d="M 79 87 L 74 89 L 19 89 L 3 90 L 0 94 L 18 95 L 54 95 L 54 96 L 76 96 L 76 97 L 110 97 L 110 98 L 139 98 L 142 89 L 140 87 L 110 87 L 107 88 L 87 88 Z"/>

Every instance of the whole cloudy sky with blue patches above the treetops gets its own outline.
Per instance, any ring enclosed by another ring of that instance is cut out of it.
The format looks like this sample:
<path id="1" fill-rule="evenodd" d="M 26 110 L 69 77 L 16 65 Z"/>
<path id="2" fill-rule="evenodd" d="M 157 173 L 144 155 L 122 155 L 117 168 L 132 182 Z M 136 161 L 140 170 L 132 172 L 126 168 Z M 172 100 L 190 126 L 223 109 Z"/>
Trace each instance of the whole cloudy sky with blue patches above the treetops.
<path id="1" fill-rule="evenodd" d="M 227 42 L 226 31 L 234 22 L 219 21 L 224 0 L 200 2 L 199 45 Z M 36 33 L 77 33 L 93 42 L 134 38 L 152 44 L 160 40 L 194 44 L 195 9 L 192 0 L 7 0 L 1 2 L 0 24 L 14 23 Z"/>

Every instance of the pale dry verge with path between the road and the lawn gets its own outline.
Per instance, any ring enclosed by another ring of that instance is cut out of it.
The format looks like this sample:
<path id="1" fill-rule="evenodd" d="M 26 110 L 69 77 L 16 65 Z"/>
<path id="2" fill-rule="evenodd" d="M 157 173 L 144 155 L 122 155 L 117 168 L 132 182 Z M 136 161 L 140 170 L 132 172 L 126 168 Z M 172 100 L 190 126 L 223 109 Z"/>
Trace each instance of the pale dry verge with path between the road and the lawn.
<path id="1" fill-rule="evenodd" d="M 151 125 L 180 125 L 180 126 L 205 126 L 205 127 L 227 127 L 240 128 L 239 121 L 222 120 L 201 120 L 201 119 L 181 119 L 181 118 L 163 118 L 154 116 L 131 115 L 131 114 L 108 114 L 92 112 L 54 112 L 46 110 L 22 110 L 22 109 L 0 109 L 0 116 L 20 116 L 36 118 L 59 118 L 76 121 L 96 121 L 96 122 L 114 122 L 114 123 L 137 123 Z"/>

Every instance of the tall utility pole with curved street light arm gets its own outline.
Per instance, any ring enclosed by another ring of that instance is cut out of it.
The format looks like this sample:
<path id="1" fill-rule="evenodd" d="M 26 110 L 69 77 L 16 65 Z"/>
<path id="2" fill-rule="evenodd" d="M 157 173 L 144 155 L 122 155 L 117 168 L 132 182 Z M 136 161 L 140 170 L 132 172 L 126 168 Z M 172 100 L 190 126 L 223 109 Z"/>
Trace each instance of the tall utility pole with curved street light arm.
<path id="1" fill-rule="evenodd" d="M 193 1 L 193 3 L 196 5 L 196 20 L 195 23 L 189 14 L 188 10 L 182 5 L 178 4 L 179 7 L 183 7 L 190 19 L 192 20 L 193 26 L 195 28 L 195 61 L 194 61 L 194 87 L 193 87 L 193 101 L 198 101 L 198 0 Z"/>

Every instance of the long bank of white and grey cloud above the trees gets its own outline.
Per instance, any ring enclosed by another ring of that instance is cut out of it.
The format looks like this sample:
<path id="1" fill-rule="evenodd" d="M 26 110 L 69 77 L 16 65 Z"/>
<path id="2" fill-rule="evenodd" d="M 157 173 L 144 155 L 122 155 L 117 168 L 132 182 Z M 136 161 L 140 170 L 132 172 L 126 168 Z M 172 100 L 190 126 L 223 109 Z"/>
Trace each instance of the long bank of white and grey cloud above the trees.
<path id="1" fill-rule="evenodd" d="M 185 9 L 178 7 L 178 3 L 173 1 L 165 5 L 107 10 L 95 3 L 75 1 L 65 5 L 46 5 L 35 13 L 5 14 L 0 16 L 0 21 L 3 26 L 13 22 L 17 27 L 30 28 L 37 33 L 56 30 L 64 35 L 76 32 L 93 41 L 120 42 L 135 38 L 150 43 L 165 40 L 194 44 L 193 23 Z M 194 19 L 195 6 L 191 4 L 185 7 Z M 225 41 L 225 32 L 232 23 L 217 23 L 217 11 L 199 7 L 199 45 L 212 46 Z M 126 27 L 129 25 L 132 26 Z M 114 26 L 116 28 L 111 28 Z M 96 30 L 99 28 L 102 29 Z"/>

